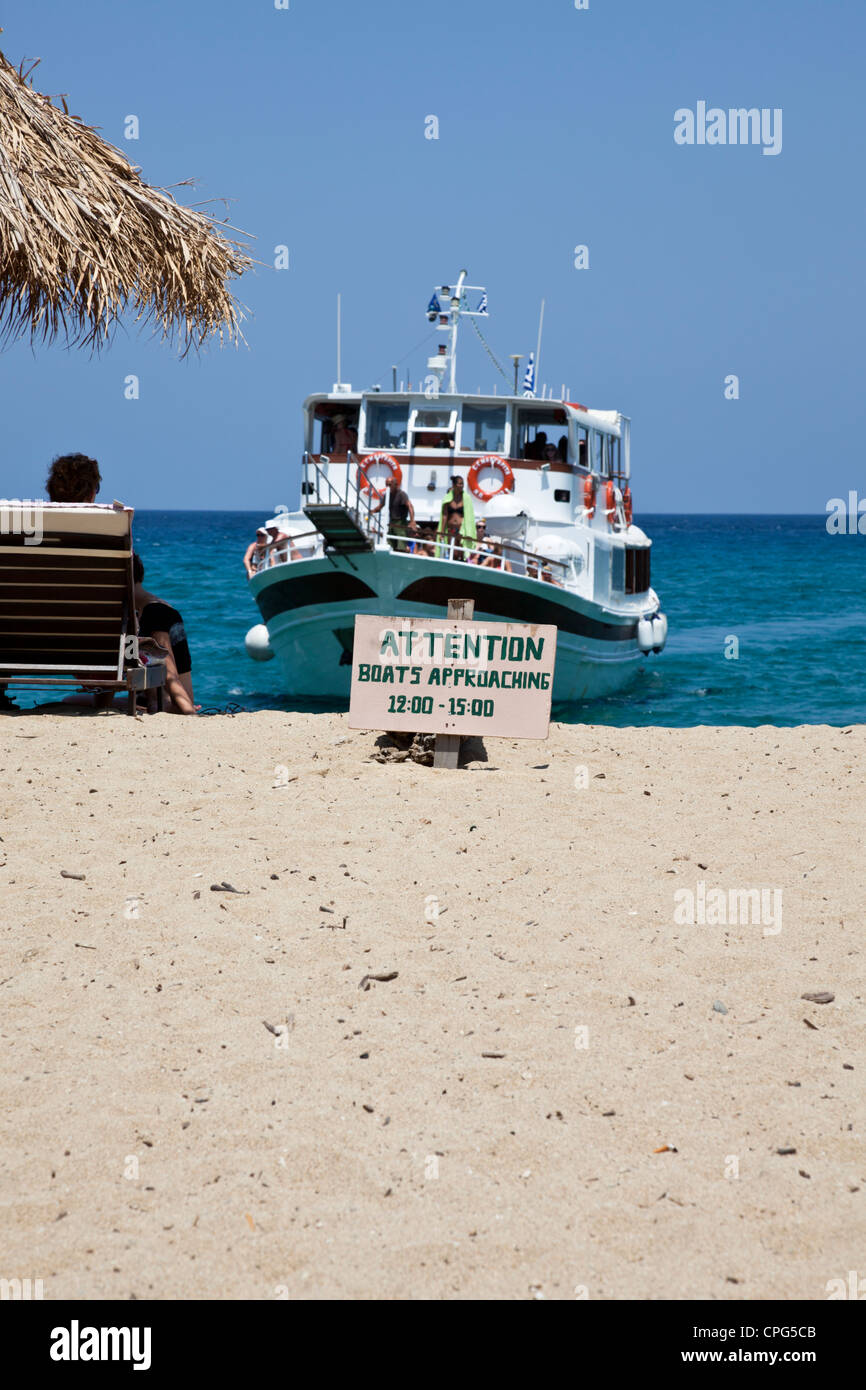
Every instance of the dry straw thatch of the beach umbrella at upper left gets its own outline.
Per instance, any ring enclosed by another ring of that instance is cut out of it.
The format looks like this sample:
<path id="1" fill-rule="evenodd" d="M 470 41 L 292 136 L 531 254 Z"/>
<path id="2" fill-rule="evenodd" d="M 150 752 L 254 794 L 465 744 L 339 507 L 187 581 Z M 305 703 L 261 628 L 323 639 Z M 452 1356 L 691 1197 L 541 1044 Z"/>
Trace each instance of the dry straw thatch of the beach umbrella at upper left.
<path id="1" fill-rule="evenodd" d="M 182 352 L 236 341 L 245 249 L 26 78 L 0 53 L 0 338 L 100 348 L 132 310 Z"/>

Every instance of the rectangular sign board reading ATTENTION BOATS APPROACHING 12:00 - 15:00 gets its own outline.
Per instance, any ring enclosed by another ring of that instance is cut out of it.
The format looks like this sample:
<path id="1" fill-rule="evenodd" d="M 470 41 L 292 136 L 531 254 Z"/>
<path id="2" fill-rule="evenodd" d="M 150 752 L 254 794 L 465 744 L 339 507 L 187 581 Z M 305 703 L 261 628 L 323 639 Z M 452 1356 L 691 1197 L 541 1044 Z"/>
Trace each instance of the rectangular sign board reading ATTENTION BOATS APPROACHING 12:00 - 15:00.
<path id="1" fill-rule="evenodd" d="M 356 616 L 350 728 L 546 738 L 556 628 Z"/>

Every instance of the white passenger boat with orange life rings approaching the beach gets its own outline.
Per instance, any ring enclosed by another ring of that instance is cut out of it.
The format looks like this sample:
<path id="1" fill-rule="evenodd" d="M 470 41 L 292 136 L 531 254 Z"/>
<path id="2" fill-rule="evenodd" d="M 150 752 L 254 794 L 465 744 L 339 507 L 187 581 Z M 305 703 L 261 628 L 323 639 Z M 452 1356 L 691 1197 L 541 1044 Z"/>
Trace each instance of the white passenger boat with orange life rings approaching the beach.
<path id="1" fill-rule="evenodd" d="M 430 300 L 445 341 L 421 389 L 338 382 L 303 404 L 300 506 L 267 523 L 250 578 L 263 623 L 246 642 L 279 659 L 286 695 L 349 696 L 356 614 L 439 617 L 452 598 L 474 599 L 478 621 L 555 624 L 555 701 L 619 691 L 664 646 L 652 542 L 632 520 L 628 418 L 539 399 L 531 367 L 523 395 L 461 395 L 467 316 L 487 317 L 487 293 L 461 272 Z M 409 535 L 389 478 L 411 503 Z"/>

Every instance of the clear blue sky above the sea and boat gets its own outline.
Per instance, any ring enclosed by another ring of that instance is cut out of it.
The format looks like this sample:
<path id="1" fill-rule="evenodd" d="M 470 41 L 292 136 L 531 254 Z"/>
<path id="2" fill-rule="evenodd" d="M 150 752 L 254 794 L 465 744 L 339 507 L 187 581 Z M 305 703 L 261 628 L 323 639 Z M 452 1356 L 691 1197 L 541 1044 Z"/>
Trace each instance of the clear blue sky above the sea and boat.
<path id="1" fill-rule="evenodd" d="M 336 292 L 343 378 L 386 385 L 461 265 L 506 366 L 544 296 L 542 379 L 632 417 L 639 510 L 866 492 L 855 0 L 7 0 L 3 25 L 7 57 L 42 58 L 39 89 L 149 182 L 231 197 L 264 265 L 240 282 L 246 348 L 179 361 L 128 325 L 99 359 L 1 353 L 0 492 L 40 495 L 50 459 L 85 450 L 101 500 L 293 506 Z M 698 101 L 781 107 L 781 153 L 676 145 L 674 111 Z M 460 367 L 463 389 L 498 379 L 468 325 Z"/>

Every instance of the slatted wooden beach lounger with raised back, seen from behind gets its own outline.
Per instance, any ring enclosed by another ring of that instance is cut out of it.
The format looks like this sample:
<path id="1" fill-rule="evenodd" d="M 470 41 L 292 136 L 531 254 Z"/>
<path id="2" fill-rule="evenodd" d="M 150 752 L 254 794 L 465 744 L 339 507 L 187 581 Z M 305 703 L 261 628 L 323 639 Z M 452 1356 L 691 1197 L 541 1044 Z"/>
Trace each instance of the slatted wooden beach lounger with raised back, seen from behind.
<path id="1" fill-rule="evenodd" d="M 125 691 L 129 714 L 156 691 L 163 709 L 165 662 L 142 659 L 133 592 L 131 507 L 0 500 L 0 688 Z"/>

